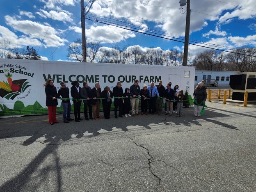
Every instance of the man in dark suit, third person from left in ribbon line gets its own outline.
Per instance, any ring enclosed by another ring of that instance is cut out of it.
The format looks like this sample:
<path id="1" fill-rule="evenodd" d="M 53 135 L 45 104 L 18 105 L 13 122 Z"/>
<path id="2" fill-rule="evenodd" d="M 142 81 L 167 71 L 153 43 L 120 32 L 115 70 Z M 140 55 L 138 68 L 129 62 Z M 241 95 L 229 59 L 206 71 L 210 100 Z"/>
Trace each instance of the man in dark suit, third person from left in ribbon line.
<path id="1" fill-rule="evenodd" d="M 71 83 L 73 85 L 71 87 L 71 96 L 73 98 L 73 106 L 74 106 L 74 115 L 75 115 L 75 121 L 80 122 L 82 119 L 80 118 L 80 110 L 81 110 L 81 87 L 79 87 L 79 82 L 78 81 L 73 81 Z"/>

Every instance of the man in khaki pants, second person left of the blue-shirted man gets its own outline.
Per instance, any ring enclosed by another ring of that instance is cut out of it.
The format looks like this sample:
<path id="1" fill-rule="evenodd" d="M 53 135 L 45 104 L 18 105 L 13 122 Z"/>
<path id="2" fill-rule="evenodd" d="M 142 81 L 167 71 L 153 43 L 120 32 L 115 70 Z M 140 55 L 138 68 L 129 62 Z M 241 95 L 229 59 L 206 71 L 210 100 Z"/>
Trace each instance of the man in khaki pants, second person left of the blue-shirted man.
<path id="1" fill-rule="evenodd" d="M 139 115 L 139 98 L 140 95 L 140 88 L 139 88 L 139 80 L 135 80 L 134 84 L 130 87 L 130 94 L 132 96 L 131 103 L 132 103 L 132 116 L 135 117 L 135 109 L 136 114 Z"/>

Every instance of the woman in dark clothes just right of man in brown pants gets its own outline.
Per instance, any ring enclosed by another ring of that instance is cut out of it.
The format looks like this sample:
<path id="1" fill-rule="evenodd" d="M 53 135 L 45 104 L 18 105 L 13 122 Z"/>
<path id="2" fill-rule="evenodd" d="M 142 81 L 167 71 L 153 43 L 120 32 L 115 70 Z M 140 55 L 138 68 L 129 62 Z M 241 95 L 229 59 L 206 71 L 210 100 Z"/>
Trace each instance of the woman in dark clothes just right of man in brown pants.
<path id="1" fill-rule="evenodd" d="M 113 93 L 110 91 L 110 87 L 106 86 L 105 89 L 101 92 L 102 107 L 105 119 L 110 119 L 110 107 L 112 103 Z"/>

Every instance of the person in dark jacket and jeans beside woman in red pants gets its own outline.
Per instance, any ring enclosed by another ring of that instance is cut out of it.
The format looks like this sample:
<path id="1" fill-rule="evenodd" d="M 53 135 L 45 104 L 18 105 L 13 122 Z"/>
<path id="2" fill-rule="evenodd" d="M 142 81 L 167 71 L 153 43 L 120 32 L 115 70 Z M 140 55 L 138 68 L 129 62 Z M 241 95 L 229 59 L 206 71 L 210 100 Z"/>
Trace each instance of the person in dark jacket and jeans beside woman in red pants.
<path id="1" fill-rule="evenodd" d="M 60 96 L 62 98 L 69 98 L 69 88 L 66 87 L 66 84 L 64 82 L 60 82 L 61 88 L 58 91 L 57 97 Z M 69 99 L 62 99 L 62 107 L 63 107 L 63 122 L 69 123 L 69 121 L 72 121 L 74 119 L 70 118 L 71 113 L 71 104 Z"/>

